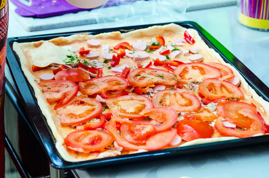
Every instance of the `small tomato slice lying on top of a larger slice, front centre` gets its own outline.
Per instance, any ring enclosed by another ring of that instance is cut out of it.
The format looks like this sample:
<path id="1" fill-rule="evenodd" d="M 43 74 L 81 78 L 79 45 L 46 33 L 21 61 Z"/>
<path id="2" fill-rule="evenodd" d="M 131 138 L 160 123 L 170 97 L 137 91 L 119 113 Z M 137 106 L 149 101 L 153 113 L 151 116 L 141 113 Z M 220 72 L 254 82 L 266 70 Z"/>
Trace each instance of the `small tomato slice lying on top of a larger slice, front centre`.
<path id="1" fill-rule="evenodd" d="M 129 142 L 134 144 L 143 144 L 146 140 L 156 134 L 156 128 L 153 124 L 146 121 L 124 122 L 121 125 L 121 134 Z"/>

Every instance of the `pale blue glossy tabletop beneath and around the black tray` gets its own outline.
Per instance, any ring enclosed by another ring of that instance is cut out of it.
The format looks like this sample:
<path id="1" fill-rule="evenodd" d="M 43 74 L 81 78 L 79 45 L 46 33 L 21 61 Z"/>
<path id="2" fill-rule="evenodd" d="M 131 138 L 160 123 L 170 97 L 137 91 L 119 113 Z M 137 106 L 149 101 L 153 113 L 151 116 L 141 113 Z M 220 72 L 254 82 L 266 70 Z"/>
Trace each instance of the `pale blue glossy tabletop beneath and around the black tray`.
<path id="1" fill-rule="evenodd" d="M 182 20 L 194 21 L 201 25 L 269 86 L 269 32 L 244 27 L 237 22 L 236 18 L 236 6 L 188 11 L 182 16 Z M 175 20 L 171 19 L 172 21 Z M 152 23 L 158 23 L 158 21 L 153 21 Z M 129 25 L 132 26 L 132 22 Z M 10 13 L 8 37 L 120 26 L 119 22 L 110 22 L 107 24 L 91 24 L 27 32 Z M 269 160 L 268 148 L 269 144 L 265 143 L 116 167 L 73 170 L 73 172 L 77 177 L 90 176 L 93 178 L 180 178 L 183 176 L 189 178 L 266 178 L 269 177 L 267 166 Z"/>

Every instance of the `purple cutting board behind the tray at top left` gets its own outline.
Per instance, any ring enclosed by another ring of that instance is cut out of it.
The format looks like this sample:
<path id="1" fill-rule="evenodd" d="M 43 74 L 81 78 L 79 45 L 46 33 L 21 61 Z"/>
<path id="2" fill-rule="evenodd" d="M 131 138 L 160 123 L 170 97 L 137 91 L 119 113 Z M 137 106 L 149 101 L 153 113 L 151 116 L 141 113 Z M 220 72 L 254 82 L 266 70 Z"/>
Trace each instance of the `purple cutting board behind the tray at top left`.
<path id="1" fill-rule="evenodd" d="M 55 15 L 62 15 L 65 13 L 79 12 L 83 9 L 75 7 L 69 4 L 66 0 L 32 0 L 32 5 L 26 5 L 20 0 L 11 0 L 17 8 L 15 12 L 23 17 L 49 17 Z M 125 0 L 125 1 L 136 1 L 136 0 Z M 120 5 L 121 0 L 109 0 L 105 7 Z"/>

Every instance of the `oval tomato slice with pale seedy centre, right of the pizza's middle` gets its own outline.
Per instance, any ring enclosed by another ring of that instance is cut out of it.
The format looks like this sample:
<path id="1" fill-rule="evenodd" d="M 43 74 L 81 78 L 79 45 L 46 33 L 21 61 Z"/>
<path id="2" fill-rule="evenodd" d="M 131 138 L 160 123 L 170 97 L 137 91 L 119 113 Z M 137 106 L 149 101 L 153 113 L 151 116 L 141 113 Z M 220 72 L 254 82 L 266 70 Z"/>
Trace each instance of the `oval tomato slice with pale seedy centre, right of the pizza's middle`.
<path id="1" fill-rule="evenodd" d="M 183 89 L 164 89 L 152 97 L 154 107 L 171 107 L 177 112 L 198 111 L 201 102 L 194 94 Z"/>

